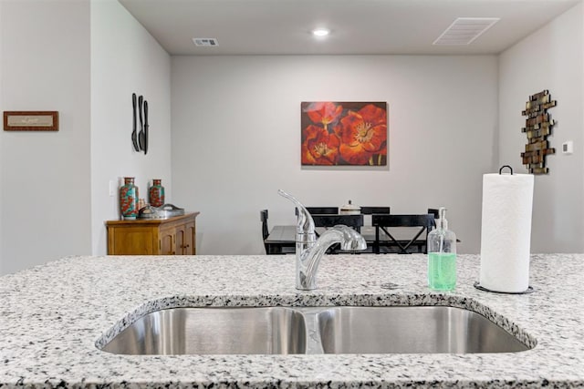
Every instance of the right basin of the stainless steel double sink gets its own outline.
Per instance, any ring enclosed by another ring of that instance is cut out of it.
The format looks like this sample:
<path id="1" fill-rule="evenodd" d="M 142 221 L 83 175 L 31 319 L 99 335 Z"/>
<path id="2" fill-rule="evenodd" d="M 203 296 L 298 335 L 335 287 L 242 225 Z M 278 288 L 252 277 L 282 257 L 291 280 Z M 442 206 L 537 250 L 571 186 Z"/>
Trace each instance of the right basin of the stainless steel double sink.
<path id="1" fill-rule="evenodd" d="M 515 353 L 528 350 L 476 312 L 454 307 L 338 307 L 317 314 L 324 353 Z"/>

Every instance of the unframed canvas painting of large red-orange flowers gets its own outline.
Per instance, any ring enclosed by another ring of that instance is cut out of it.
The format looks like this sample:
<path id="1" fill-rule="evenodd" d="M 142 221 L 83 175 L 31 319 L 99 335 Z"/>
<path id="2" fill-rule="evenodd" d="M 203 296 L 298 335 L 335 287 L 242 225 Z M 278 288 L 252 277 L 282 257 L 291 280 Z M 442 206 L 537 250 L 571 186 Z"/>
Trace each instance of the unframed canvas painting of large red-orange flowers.
<path id="1" fill-rule="evenodd" d="M 386 166 L 387 103 L 302 102 L 303 166 Z"/>

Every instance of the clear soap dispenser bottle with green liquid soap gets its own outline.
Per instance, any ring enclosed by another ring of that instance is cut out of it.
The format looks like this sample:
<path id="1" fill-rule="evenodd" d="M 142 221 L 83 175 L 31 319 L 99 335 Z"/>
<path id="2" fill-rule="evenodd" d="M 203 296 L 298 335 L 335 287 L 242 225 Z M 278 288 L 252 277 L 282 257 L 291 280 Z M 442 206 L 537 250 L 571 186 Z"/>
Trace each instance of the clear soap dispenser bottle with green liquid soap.
<path id="1" fill-rule="evenodd" d="M 438 225 L 428 234 L 428 286 L 452 291 L 456 286 L 456 235 L 448 230 L 446 209 L 441 207 Z"/>

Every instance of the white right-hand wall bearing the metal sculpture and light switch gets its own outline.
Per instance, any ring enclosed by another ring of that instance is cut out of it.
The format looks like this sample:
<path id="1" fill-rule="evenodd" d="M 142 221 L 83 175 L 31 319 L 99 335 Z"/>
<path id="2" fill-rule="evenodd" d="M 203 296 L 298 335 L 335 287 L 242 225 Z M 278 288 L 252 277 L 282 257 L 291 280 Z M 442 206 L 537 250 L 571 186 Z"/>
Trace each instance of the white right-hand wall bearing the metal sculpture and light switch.
<path id="1" fill-rule="evenodd" d="M 582 5 L 502 53 L 499 61 L 499 164 L 527 172 L 520 158 L 527 137 L 527 98 L 548 89 L 558 107 L 549 109 L 557 121 L 548 137 L 556 154 L 548 156 L 548 175 L 535 177 L 532 252 L 584 251 L 583 142 L 583 19 Z M 561 145 L 574 142 L 574 154 L 563 155 Z"/>

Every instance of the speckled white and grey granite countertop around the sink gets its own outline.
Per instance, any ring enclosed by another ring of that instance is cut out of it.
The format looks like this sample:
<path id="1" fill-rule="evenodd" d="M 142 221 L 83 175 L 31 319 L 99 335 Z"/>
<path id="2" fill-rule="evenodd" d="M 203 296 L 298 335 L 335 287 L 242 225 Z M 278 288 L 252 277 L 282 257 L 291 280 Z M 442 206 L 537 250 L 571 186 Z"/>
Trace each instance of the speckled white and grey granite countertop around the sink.
<path id="1" fill-rule="evenodd" d="M 584 254 L 533 255 L 535 292 L 426 287 L 423 255 L 325 256 L 299 292 L 293 256 L 69 257 L 0 278 L 0 387 L 506 387 L 584 385 Z M 381 288 L 398 284 L 395 290 Z M 170 306 L 454 305 L 512 328 L 521 353 L 118 355 L 96 342 Z M 508 321 L 508 322 L 506 322 Z"/>

